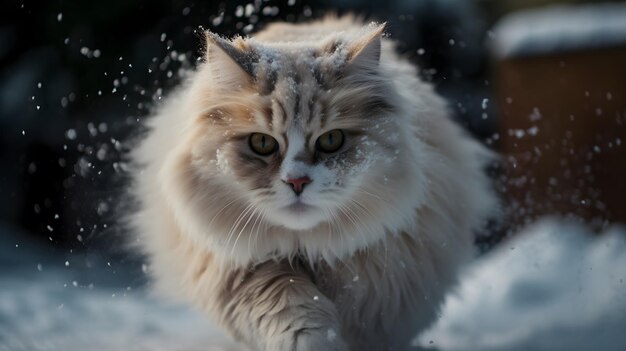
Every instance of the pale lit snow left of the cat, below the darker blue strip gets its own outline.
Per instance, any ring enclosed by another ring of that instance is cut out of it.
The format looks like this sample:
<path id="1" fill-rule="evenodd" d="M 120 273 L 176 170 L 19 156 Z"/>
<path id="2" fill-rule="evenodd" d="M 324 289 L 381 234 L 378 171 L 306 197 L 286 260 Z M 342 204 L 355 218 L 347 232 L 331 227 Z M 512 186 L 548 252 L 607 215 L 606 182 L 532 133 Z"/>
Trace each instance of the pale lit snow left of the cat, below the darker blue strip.
<path id="1" fill-rule="evenodd" d="M 204 316 L 145 291 L 119 294 L 65 282 L 62 274 L 2 282 L 0 350 L 236 350 Z"/>

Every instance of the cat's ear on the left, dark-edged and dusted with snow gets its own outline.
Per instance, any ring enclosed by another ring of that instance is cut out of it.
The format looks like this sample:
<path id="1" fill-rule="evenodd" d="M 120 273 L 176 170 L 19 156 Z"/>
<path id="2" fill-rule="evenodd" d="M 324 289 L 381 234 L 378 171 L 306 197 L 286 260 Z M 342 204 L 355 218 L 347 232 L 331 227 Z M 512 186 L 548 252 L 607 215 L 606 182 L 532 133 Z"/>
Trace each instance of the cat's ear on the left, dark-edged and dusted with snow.
<path id="1" fill-rule="evenodd" d="M 206 31 L 206 62 L 223 83 L 241 83 L 254 79 L 258 54 L 237 37 L 227 40 Z"/>

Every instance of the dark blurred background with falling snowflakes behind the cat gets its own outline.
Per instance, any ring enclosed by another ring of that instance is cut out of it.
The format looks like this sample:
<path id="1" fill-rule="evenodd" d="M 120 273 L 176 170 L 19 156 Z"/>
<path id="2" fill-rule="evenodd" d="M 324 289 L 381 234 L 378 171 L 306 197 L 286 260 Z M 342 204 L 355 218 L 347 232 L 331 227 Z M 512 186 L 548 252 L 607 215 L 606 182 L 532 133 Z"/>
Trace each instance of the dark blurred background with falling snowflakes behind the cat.
<path id="1" fill-rule="evenodd" d="M 0 347 L 13 340 L 7 349 L 34 349 L 16 341 L 28 332 L 10 327 L 19 303 L 7 286 L 22 284 L 21 295 L 56 272 L 65 273 L 48 286 L 60 296 L 126 296 L 144 286 L 145 266 L 121 249 L 116 223 L 127 208 L 123 155 L 201 58 L 202 28 L 246 35 L 329 11 L 388 22 L 454 118 L 502 155 L 489 172 L 505 219 L 477 236 L 481 251 L 546 215 L 590 236 L 626 222 L 626 2 L 8 0 L 0 11 Z M 35 307 L 23 308 L 38 320 Z"/>

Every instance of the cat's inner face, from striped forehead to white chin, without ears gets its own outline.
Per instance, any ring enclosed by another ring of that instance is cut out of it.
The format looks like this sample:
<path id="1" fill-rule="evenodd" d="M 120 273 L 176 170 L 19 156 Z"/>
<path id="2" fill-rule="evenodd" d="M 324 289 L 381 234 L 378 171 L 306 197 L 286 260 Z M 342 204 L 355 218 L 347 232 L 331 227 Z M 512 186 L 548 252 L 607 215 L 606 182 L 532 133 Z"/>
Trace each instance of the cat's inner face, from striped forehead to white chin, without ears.
<path id="1" fill-rule="evenodd" d="M 342 212 L 365 215 L 350 213 L 359 206 L 354 195 L 366 191 L 370 167 L 393 156 L 381 142 L 384 112 L 343 116 L 332 92 L 296 86 L 290 94 L 280 85 L 263 99 L 266 108 L 250 111 L 254 117 L 232 116 L 241 122 L 231 124 L 231 137 L 217 149 L 218 168 L 267 220 L 289 229 L 309 229 Z"/>

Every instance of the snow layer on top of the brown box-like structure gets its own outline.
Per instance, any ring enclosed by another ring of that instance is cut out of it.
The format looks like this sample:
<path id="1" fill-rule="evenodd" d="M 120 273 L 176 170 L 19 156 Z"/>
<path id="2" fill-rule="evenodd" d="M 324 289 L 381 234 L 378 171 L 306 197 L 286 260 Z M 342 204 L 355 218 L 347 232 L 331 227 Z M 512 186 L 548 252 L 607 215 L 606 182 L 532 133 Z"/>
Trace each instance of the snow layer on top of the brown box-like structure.
<path id="1" fill-rule="evenodd" d="M 498 22 L 491 47 L 499 58 L 626 44 L 626 3 L 551 6 Z"/>

